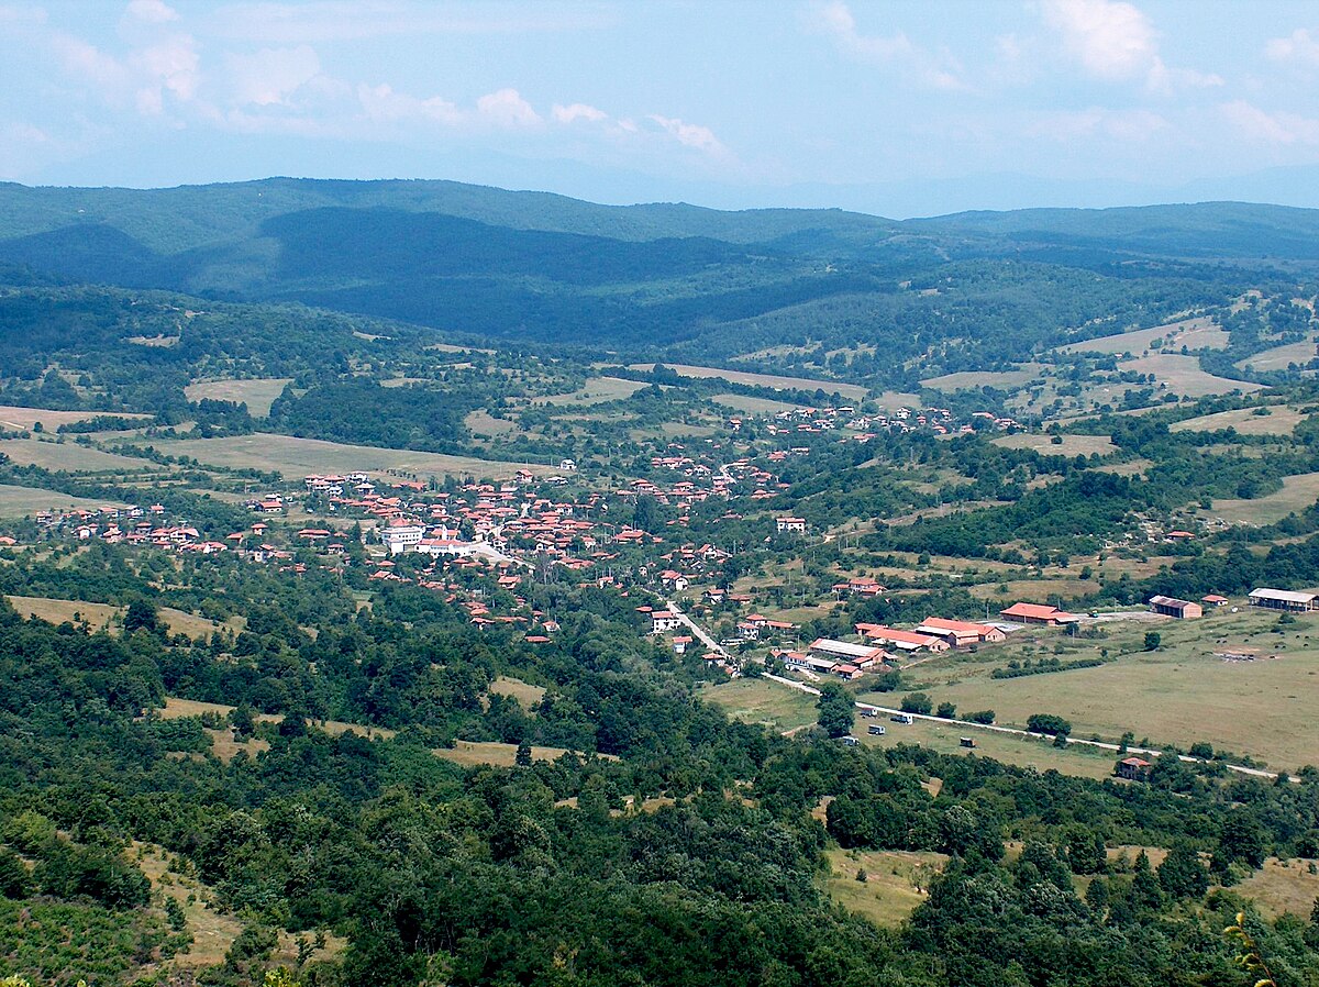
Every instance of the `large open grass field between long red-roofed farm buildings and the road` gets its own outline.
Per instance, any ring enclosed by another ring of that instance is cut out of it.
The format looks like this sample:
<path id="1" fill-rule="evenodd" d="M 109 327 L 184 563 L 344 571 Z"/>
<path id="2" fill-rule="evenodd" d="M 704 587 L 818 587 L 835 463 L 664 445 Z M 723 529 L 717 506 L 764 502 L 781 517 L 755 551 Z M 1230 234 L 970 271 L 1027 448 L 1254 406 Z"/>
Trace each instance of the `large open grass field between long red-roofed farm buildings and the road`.
<path id="1" fill-rule="evenodd" d="M 1262 759 L 1274 769 L 1295 772 L 1304 764 L 1319 764 L 1319 732 L 1310 728 L 1319 684 L 1319 616 L 1301 616 L 1279 628 L 1272 612 L 1242 608 L 1232 614 L 1224 608 L 1200 620 L 1103 627 L 1107 637 L 1086 641 L 1060 657 L 1097 657 L 1101 647 L 1112 654 L 1132 653 L 1097 668 L 991 678 L 993 666 L 1014 657 L 1051 654 L 1049 643 L 1063 641 L 1057 631 L 1022 631 L 997 647 L 993 661 L 940 656 L 913 678 L 919 678 L 935 702 L 954 702 L 962 711 L 992 709 L 1004 724 L 1020 726 L 1033 713 L 1053 713 L 1070 719 L 1078 738 L 1099 734 L 1116 739 L 1130 730 L 1137 739 L 1148 736 L 1155 744 L 1183 748 L 1207 740 L 1216 748 Z M 1155 652 L 1141 649 L 1150 629 L 1162 636 Z M 1257 660 L 1219 657 L 1246 651 Z M 977 657 L 988 654 L 983 651 Z"/>

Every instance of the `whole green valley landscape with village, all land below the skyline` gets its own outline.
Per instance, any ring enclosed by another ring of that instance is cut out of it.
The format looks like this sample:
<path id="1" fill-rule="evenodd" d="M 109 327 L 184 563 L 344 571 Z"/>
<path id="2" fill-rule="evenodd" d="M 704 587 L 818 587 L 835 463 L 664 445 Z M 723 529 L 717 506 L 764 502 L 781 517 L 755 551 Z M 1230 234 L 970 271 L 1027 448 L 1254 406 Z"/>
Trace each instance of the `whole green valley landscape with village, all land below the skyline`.
<path id="1" fill-rule="evenodd" d="M 1315 244 L 0 186 L 0 976 L 1319 980 Z"/>

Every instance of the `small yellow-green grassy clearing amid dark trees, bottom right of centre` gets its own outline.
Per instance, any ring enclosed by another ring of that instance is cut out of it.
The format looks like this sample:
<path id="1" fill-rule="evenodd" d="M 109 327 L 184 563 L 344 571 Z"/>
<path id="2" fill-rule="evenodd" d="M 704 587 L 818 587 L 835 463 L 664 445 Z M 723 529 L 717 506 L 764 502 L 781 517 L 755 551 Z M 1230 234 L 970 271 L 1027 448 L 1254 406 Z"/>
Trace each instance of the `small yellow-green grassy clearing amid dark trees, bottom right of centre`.
<path id="1" fill-rule="evenodd" d="M 865 852 L 835 847 L 826 855 L 830 872 L 822 885 L 828 896 L 848 912 L 884 926 L 898 925 L 910 916 L 925 901 L 930 877 L 948 862 L 943 854 L 893 850 Z M 865 871 L 864 883 L 856 879 L 857 871 Z"/>

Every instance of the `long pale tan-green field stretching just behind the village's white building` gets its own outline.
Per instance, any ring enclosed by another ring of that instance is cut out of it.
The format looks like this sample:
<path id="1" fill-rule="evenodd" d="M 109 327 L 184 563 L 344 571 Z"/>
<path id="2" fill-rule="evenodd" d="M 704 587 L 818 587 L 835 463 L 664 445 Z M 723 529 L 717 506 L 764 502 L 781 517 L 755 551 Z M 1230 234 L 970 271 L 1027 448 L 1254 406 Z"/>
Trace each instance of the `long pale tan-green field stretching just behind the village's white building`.
<path id="1" fill-rule="evenodd" d="M 224 467 L 249 467 L 277 471 L 285 476 L 348 472 L 363 470 L 383 474 L 396 470 L 413 476 L 512 476 L 520 468 L 537 474 L 553 472 L 547 466 L 474 459 L 439 453 L 415 453 L 406 449 L 350 446 L 315 438 L 295 438 L 253 433 L 230 438 L 170 439 L 153 443 L 168 455 L 187 455 L 202 463 Z"/>

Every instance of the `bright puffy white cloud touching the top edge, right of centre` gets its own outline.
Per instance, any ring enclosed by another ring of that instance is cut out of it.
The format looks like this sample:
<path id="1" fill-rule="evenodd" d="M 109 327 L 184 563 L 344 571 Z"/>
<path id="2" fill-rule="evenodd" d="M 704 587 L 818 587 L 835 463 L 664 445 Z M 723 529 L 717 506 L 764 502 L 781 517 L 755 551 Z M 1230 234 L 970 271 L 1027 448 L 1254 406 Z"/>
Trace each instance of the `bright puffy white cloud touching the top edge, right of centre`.
<path id="1" fill-rule="evenodd" d="M 1105 82 L 1144 80 L 1154 92 L 1221 86 L 1223 79 L 1192 69 L 1170 69 L 1158 33 L 1137 7 L 1122 0 L 1045 0 L 1046 22 L 1088 75 Z"/>

